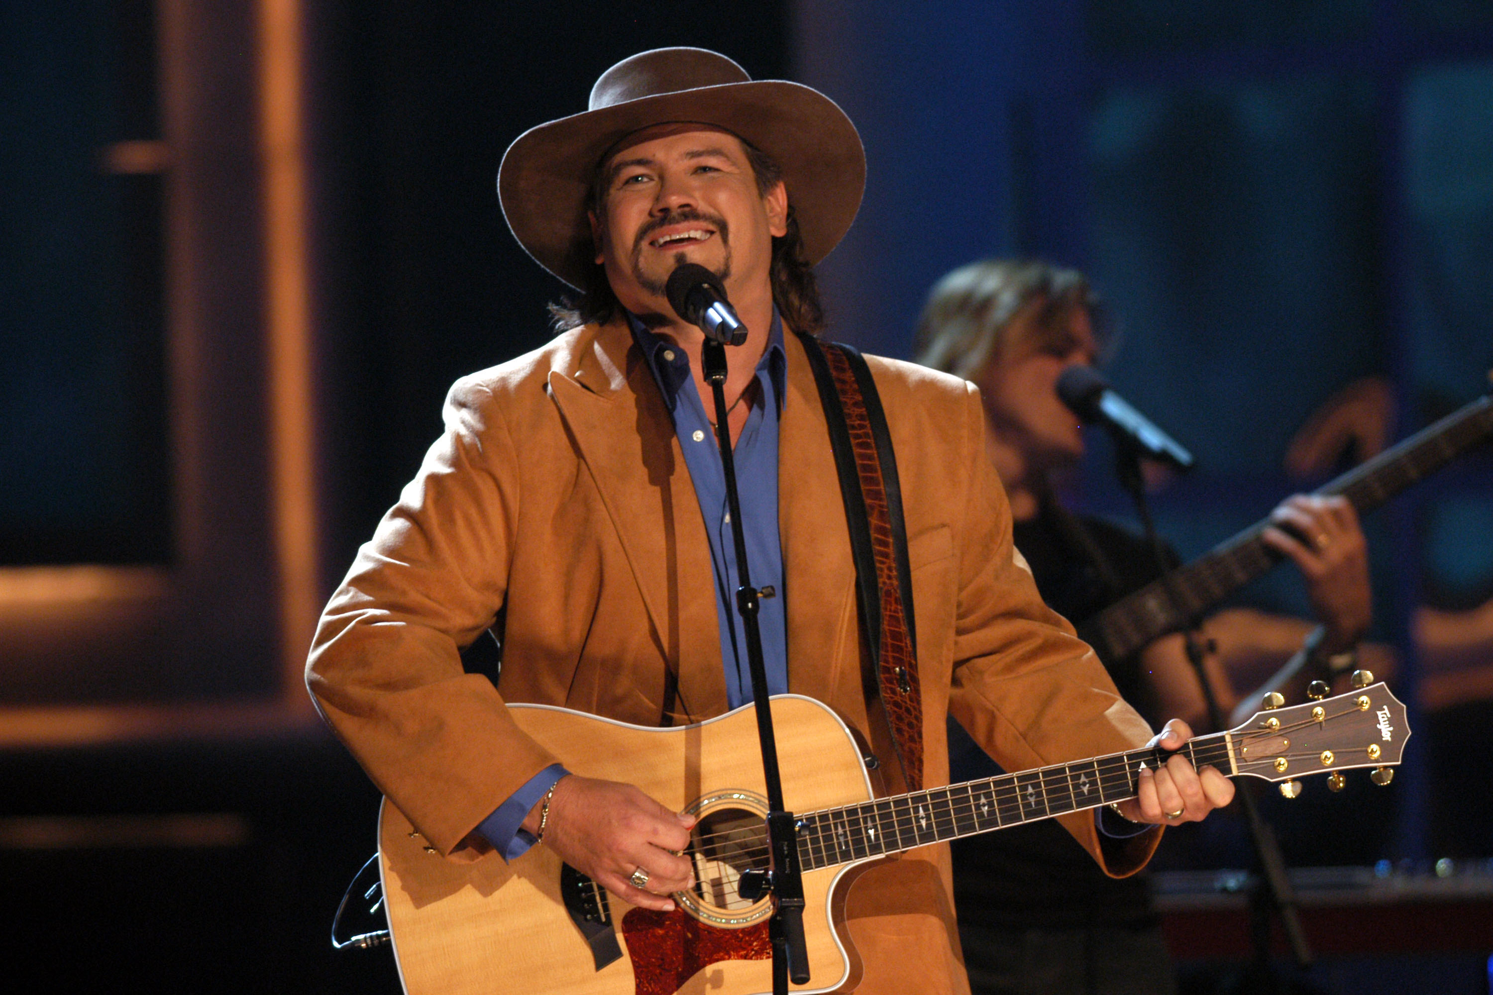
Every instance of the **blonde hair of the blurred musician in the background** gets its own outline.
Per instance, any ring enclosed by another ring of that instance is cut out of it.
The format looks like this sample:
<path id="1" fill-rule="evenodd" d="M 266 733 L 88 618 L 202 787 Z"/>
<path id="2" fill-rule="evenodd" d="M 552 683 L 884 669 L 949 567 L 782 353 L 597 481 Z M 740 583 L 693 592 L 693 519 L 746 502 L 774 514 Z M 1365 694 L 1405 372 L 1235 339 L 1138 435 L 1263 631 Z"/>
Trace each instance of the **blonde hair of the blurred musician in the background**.
<path id="1" fill-rule="evenodd" d="M 966 380 L 991 362 L 1073 348 L 1069 316 L 1088 310 L 1096 333 L 1102 304 L 1078 270 L 1036 260 L 981 260 L 948 273 L 929 291 L 914 342 L 917 361 Z M 1030 321 L 1018 318 L 1030 316 Z"/>

